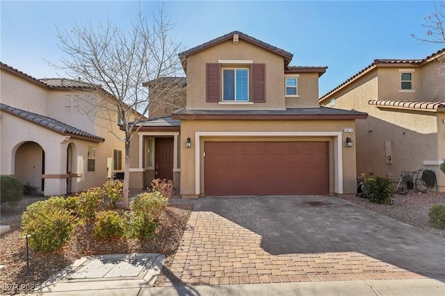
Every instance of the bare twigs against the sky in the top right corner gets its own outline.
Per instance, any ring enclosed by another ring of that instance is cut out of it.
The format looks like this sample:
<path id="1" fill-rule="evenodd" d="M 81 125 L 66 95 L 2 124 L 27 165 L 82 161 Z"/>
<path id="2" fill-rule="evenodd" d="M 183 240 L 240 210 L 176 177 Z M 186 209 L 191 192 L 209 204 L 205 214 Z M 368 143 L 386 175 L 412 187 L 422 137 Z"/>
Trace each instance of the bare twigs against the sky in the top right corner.
<path id="1" fill-rule="evenodd" d="M 412 38 L 421 42 L 445 43 L 445 1 L 434 3 L 435 11 L 425 17 L 422 28 L 426 29 L 426 37 L 411 34 Z"/>

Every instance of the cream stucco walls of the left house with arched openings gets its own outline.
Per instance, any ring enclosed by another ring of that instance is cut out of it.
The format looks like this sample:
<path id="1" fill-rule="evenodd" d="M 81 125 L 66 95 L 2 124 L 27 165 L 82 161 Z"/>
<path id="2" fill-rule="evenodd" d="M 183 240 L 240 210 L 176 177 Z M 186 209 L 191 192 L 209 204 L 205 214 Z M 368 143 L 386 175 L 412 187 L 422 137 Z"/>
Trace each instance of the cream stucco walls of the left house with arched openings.
<path id="1" fill-rule="evenodd" d="M 45 153 L 45 174 L 50 175 L 45 179 L 45 195 L 63 195 L 66 193 L 67 172 L 67 147 L 72 144 L 72 192 L 100 186 L 106 181 L 108 160 L 113 159 L 113 150 L 122 151 L 122 169 L 124 168 L 124 142 L 123 132 L 118 129 L 117 115 L 108 117 L 110 120 L 96 117 L 92 122 L 86 114 L 72 112 L 67 106 L 76 106 L 73 100 L 74 93 L 70 90 L 50 90 L 31 83 L 19 75 L 1 71 L 1 102 L 16 108 L 29 110 L 40 115 L 45 115 L 78 129 L 105 138 L 104 143 L 90 140 L 81 140 L 74 137 L 65 138 L 49 129 L 37 124 L 27 122 L 14 115 L 1 112 L 1 169 L 2 175 L 26 176 L 22 171 L 26 167 L 16 167 L 15 152 L 20 145 L 26 142 L 35 142 Z M 113 133 L 111 133 L 112 131 Z M 118 137 L 116 137 L 118 135 Z M 95 172 L 87 171 L 88 145 L 95 147 Z M 16 172 L 17 170 L 17 172 Z M 113 166 L 108 167 L 113 170 Z M 35 179 L 32 183 L 38 183 L 41 174 L 26 177 Z M 29 180 L 22 180 L 24 182 Z M 30 182 L 31 183 L 31 182 Z M 40 185 L 35 185 L 39 186 Z"/>

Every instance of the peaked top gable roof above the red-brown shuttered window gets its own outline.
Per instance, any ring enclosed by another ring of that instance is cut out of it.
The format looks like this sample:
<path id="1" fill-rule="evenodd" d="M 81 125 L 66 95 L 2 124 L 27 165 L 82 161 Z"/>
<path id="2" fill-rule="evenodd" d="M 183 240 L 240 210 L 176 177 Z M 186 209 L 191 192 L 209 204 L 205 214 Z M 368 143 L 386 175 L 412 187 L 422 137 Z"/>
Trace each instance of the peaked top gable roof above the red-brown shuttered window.
<path id="1" fill-rule="evenodd" d="M 209 47 L 213 47 L 213 45 L 219 44 L 221 42 L 225 42 L 226 40 L 229 40 L 231 38 L 233 38 L 234 35 L 238 35 L 238 38 L 241 38 L 245 41 L 251 42 L 253 44 L 258 45 L 259 47 L 263 47 L 264 49 L 267 49 L 269 51 L 274 52 L 275 54 L 279 54 L 280 56 L 283 56 L 284 59 L 287 61 L 286 65 L 289 64 L 289 62 L 291 61 L 293 54 L 291 54 L 289 51 L 285 51 L 284 49 L 280 49 L 278 47 L 274 47 L 273 45 L 270 45 L 266 42 L 263 42 L 261 40 L 258 40 L 256 38 L 253 38 L 243 32 L 240 31 L 233 31 L 230 33 L 227 33 L 223 36 L 220 36 L 216 39 L 210 40 L 208 42 L 205 42 L 201 45 L 198 45 L 197 47 L 193 47 L 191 49 L 188 49 L 186 51 L 181 52 L 178 56 L 179 58 L 183 59 L 186 58 L 186 56 L 189 56 L 191 54 L 195 54 L 198 51 L 202 51 L 204 49 L 207 49 Z"/>

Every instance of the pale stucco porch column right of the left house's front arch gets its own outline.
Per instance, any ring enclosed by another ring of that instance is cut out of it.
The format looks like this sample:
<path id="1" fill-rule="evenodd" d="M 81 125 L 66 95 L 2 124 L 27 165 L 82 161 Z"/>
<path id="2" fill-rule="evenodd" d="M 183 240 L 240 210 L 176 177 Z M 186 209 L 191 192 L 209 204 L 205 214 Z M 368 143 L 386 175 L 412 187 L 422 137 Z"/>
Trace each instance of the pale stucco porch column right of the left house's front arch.
<path id="1" fill-rule="evenodd" d="M 67 147 L 70 137 L 60 139 L 58 144 L 44 146 L 44 195 L 67 193 Z"/>

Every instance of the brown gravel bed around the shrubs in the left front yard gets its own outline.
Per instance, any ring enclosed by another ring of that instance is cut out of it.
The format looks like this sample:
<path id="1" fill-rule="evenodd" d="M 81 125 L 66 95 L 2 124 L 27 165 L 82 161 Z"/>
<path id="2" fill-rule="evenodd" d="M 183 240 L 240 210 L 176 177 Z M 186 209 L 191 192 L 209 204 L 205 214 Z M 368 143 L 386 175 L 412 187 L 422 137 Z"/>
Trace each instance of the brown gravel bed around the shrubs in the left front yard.
<path id="1" fill-rule="evenodd" d="M 138 192 L 134 192 L 137 194 Z M 24 197 L 15 208 L 1 206 L 0 222 L 10 225 L 11 231 L 0 238 L 0 294 L 10 294 L 8 287 L 35 287 L 49 279 L 63 268 L 82 256 L 97 254 L 160 253 L 165 254 L 162 273 L 155 286 L 165 282 L 175 254 L 181 243 L 182 235 L 192 206 L 170 204 L 161 214 L 156 236 L 151 239 L 116 239 L 111 242 L 97 242 L 92 236 L 92 226 L 78 226 L 74 236 L 64 247 L 52 254 L 29 251 L 29 268 L 26 267 L 26 244 L 20 227 L 22 213 L 26 206 L 45 199 L 42 196 Z M 26 290 L 16 290 L 25 293 Z"/>

